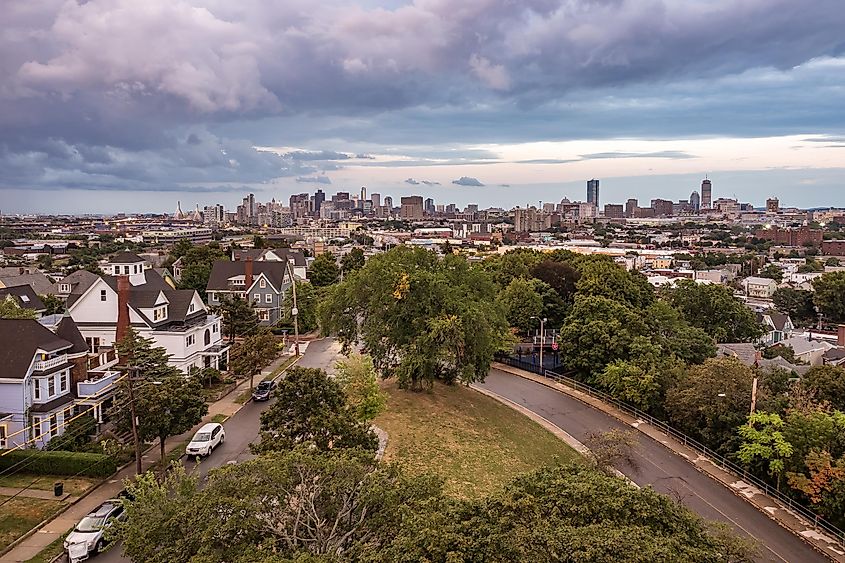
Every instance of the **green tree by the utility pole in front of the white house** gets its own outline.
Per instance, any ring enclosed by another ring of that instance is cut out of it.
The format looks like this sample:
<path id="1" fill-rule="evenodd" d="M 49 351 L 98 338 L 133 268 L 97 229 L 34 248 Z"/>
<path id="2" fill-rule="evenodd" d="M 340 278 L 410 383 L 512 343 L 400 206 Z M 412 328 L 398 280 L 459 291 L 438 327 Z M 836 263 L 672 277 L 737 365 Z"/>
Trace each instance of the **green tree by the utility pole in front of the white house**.
<path id="1" fill-rule="evenodd" d="M 138 418 L 138 436 L 142 442 L 158 439 L 161 457 L 167 438 L 190 430 L 208 412 L 202 385 L 168 365 L 164 348 L 130 330 L 117 344 L 126 375 L 115 391 L 111 410 L 117 428 L 128 431 L 132 424 L 131 400 Z M 130 400 L 129 386 L 132 386 Z M 164 467 L 162 466 L 162 470 Z"/>

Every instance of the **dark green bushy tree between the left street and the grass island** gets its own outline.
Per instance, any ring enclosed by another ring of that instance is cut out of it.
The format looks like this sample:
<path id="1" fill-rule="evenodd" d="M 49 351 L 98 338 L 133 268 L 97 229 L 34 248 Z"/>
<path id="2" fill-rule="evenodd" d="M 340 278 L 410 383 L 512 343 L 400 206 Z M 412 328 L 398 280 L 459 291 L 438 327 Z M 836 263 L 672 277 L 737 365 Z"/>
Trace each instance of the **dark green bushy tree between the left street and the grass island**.
<path id="1" fill-rule="evenodd" d="M 276 400 L 261 413 L 254 452 L 286 451 L 309 445 L 322 451 L 375 451 L 378 439 L 358 420 L 340 384 L 316 368 L 290 368 L 279 381 Z"/>

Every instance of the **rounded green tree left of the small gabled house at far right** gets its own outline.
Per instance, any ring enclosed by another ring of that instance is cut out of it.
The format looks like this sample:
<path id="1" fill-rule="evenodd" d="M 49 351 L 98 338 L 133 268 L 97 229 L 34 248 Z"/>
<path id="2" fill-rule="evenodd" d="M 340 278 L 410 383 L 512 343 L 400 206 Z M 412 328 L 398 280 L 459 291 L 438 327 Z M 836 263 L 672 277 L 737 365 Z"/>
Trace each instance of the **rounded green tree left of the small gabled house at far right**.
<path id="1" fill-rule="evenodd" d="M 716 342 L 753 342 L 763 334 L 754 313 L 727 287 L 680 280 L 664 290 L 664 298 L 686 321 Z"/>

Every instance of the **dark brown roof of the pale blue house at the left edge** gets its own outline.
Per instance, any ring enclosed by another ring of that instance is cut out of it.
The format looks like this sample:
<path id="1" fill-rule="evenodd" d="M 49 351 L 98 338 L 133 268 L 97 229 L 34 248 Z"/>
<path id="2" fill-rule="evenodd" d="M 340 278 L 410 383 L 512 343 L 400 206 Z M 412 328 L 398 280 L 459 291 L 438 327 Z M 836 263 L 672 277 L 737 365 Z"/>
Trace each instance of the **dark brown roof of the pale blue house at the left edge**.
<path id="1" fill-rule="evenodd" d="M 23 379 L 36 350 L 58 352 L 72 344 L 32 319 L 0 319 L 2 377 Z"/>

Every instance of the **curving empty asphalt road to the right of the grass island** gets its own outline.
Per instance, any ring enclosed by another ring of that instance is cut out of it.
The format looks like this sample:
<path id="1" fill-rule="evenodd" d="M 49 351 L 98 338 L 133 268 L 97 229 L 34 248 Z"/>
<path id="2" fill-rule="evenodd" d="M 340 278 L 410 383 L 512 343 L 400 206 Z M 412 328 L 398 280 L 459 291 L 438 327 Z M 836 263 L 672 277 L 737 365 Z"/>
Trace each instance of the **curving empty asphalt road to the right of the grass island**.
<path id="1" fill-rule="evenodd" d="M 480 386 L 519 403 L 581 441 L 591 433 L 628 428 L 577 399 L 500 370 L 491 370 Z M 658 492 L 680 498 L 704 518 L 727 522 L 756 539 L 761 546 L 760 561 L 828 561 L 751 504 L 699 473 L 689 462 L 654 440 L 640 435 L 637 458 L 639 467 L 636 470 L 623 466 L 618 469 L 638 485 L 651 485 Z"/>

